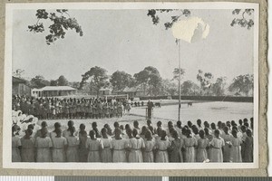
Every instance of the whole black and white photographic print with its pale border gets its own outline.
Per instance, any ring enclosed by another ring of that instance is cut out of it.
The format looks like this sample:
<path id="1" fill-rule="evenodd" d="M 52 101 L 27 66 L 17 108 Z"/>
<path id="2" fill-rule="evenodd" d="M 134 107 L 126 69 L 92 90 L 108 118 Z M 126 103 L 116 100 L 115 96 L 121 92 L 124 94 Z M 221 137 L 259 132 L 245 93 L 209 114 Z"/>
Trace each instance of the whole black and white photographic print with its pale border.
<path id="1" fill-rule="evenodd" d="M 6 6 L 4 167 L 258 167 L 258 5 Z"/>

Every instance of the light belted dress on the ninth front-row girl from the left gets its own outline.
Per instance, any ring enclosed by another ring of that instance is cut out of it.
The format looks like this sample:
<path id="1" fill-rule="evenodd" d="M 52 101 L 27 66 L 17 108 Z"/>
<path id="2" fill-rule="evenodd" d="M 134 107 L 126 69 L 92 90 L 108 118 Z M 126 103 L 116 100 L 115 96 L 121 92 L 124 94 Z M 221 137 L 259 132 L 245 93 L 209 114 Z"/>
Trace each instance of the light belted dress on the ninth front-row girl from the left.
<path id="1" fill-rule="evenodd" d="M 128 148 L 128 142 L 126 139 L 112 139 L 112 162 L 126 162 L 125 148 Z"/>

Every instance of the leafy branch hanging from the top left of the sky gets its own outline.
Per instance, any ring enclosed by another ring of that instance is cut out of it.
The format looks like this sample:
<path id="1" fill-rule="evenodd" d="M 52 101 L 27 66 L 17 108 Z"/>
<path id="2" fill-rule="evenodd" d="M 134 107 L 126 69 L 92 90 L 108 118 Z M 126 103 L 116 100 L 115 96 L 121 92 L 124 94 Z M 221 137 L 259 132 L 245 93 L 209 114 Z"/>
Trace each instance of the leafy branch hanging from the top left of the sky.
<path id="1" fill-rule="evenodd" d="M 56 9 L 53 13 L 47 12 L 45 9 L 38 9 L 35 15 L 37 22 L 28 26 L 29 32 L 44 33 L 44 23 L 40 22 L 42 20 L 53 23 L 48 27 L 49 34 L 45 36 L 48 45 L 60 38 L 63 39 L 68 30 L 75 30 L 76 33 L 83 36 L 82 26 L 77 23 L 75 18 L 70 17 L 67 9 Z"/>

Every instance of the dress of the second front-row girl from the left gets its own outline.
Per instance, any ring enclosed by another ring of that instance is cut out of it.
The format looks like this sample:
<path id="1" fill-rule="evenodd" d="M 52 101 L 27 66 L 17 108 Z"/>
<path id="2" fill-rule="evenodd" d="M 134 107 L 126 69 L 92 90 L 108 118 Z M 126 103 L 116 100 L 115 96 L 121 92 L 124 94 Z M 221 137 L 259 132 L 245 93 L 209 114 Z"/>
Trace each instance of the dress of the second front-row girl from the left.
<path id="1" fill-rule="evenodd" d="M 22 150 L 21 157 L 22 162 L 34 162 L 34 149 L 35 149 L 35 138 L 21 138 Z"/>

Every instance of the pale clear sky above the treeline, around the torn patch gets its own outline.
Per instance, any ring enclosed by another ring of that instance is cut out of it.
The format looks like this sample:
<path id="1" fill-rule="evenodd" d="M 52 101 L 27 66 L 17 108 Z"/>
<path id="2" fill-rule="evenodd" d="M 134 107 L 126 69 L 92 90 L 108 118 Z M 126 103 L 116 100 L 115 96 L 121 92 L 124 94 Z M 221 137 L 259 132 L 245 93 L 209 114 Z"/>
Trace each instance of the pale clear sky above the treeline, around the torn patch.
<path id="1" fill-rule="evenodd" d="M 209 24 L 209 35 L 197 43 L 180 42 L 183 81 L 197 81 L 198 70 L 211 72 L 215 80 L 228 81 L 240 74 L 253 73 L 254 29 L 230 26 L 236 17 L 232 10 L 191 10 Z M 126 71 L 133 75 L 146 66 L 172 79 L 178 67 L 179 49 L 170 30 L 163 24 L 170 14 L 161 14 L 160 24 L 152 24 L 147 10 L 71 10 L 83 28 L 83 36 L 68 31 L 54 44 L 45 43 L 45 33 L 31 33 L 27 26 L 36 23 L 34 10 L 14 10 L 13 71 L 24 70 L 24 77 L 43 75 L 56 80 L 81 81 L 82 74 L 100 66 L 111 75 Z M 46 24 L 47 26 L 49 24 Z"/>

